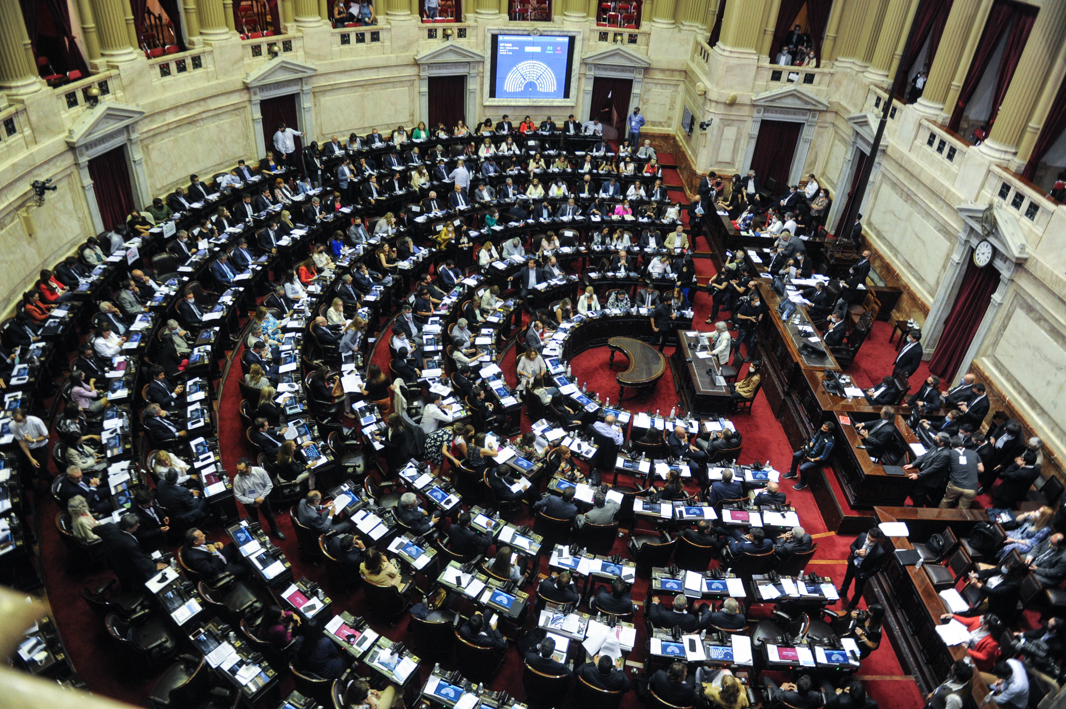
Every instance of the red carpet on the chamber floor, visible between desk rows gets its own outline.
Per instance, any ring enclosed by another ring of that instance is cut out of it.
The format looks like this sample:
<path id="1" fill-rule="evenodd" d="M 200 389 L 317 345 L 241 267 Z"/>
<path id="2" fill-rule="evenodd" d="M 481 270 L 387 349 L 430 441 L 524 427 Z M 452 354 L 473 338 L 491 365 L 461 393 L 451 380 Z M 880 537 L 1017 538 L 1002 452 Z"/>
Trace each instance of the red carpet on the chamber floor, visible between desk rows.
<path id="1" fill-rule="evenodd" d="M 705 248 L 706 245 L 698 243 L 697 248 Z M 700 283 L 707 277 L 713 276 L 713 267 L 708 259 L 697 259 L 697 270 L 700 275 Z M 696 323 L 698 328 L 704 328 L 702 320 L 710 305 L 710 297 L 700 292 L 695 297 L 694 307 L 696 310 Z M 895 355 L 894 345 L 887 343 L 888 326 L 885 323 L 876 323 L 871 334 L 871 339 L 863 345 L 859 358 L 853 367 L 853 373 L 860 383 L 872 383 L 884 373 L 891 371 L 891 361 Z M 667 348 L 666 354 L 671 353 Z M 238 357 L 240 352 L 233 353 Z M 375 361 L 383 364 L 383 358 L 387 358 L 384 352 L 377 353 Z M 236 359 L 235 359 L 236 360 Z M 514 351 L 507 353 L 501 366 L 508 380 L 514 383 Z M 617 370 L 615 370 L 617 371 Z M 614 380 L 614 372 L 607 367 L 605 349 L 595 349 L 587 351 L 572 360 L 572 373 L 579 382 L 585 382 L 591 390 L 599 392 L 601 396 L 610 396 L 614 400 L 617 396 L 617 385 Z M 223 464 L 227 470 L 236 468 L 237 461 L 247 454 L 244 444 L 244 431 L 241 428 L 238 416 L 240 403 L 240 392 L 237 387 L 237 376 L 239 369 L 233 370 L 233 374 L 228 377 L 224 389 L 220 392 L 219 404 L 219 440 L 223 454 Z M 742 374 L 743 375 L 743 374 Z M 918 375 L 912 380 L 917 383 Z M 862 378 L 866 377 L 866 382 Z M 655 394 L 648 398 L 644 409 L 668 413 L 672 406 L 677 403 L 677 396 L 673 389 L 671 375 L 667 374 L 660 382 Z M 630 408 L 634 408 L 630 406 Z M 733 417 L 738 430 L 744 436 L 744 448 L 741 455 L 742 463 L 753 461 L 770 461 L 778 469 L 785 469 L 791 456 L 791 448 L 785 437 L 781 425 L 776 421 L 770 412 L 765 399 L 760 393 L 756 399 L 749 415 L 738 415 Z M 523 416 L 522 430 L 528 430 L 530 421 Z M 619 478 L 619 482 L 624 482 Z M 628 482 L 628 481 L 626 481 Z M 807 490 L 793 493 L 794 481 L 784 481 L 782 489 L 788 494 L 790 503 L 794 504 L 798 511 L 801 522 L 804 528 L 815 536 L 819 548 L 808 567 L 808 570 L 817 571 L 822 576 L 830 577 L 839 585 L 845 570 L 845 559 L 849 545 L 853 537 L 840 536 L 826 532 L 824 522 L 819 515 L 810 493 Z M 124 655 L 117 651 L 115 645 L 104 637 L 101 621 L 88 612 L 84 601 L 79 597 L 82 585 L 110 577 L 107 571 L 79 575 L 69 571 L 66 566 L 66 549 L 59 538 L 51 519 L 56 510 L 51 499 L 43 499 L 42 514 L 46 523 L 43 527 L 41 544 L 43 547 L 44 566 L 47 581 L 49 600 L 52 612 L 56 617 L 59 627 L 63 632 L 67 649 L 74 660 L 75 666 L 79 670 L 92 691 L 116 699 L 122 699 L 131 704 L 144 706 L 146 695 L 162 667 L 143 667 L 141 663 L 131 663 Z M 305 563 L 298 553 L 295 543 L 295 535 L 292 533 L 291 525 L 288 521 L 288 514 L 279 512 L 278 521 L 281 530 L 288 534 L 288 539 L 280 542 L 289 560 L 293 564 L 293 570 L 297 577 L 305 576 L 317 581 L 324 581 L 325 574 L 322 567 L 311 566 Z M 615 545 L 616 552 L 624 552 L 625 539 L 618 539 Z M 542 573 L 544 566 L 542 566 Z M 425 581 L 422 582 L 424 587 Z M 531 591 L 532 589 L 528 589 Z M 648 582 L 637 579 L 633 587 L 633 599 L 639 602 L 647 600 Z M 335 610 L 348 610 L 352 614 L 359 616 L 366 613 L 364 596 L 360 591 L 350 595 L 333 594 Z M 838 607 L 839 608 L 839 607 Z M 764 615 L 765 609 L 752 609 L 749 615 Z M 643 625 L 643 617 L 637 614 L 639 626 Z M 375 629 L 393 639 L 409 639 L 406 631 L 406 621 L 401 621 L 393 628 L 384 627 L 383 624 L 374 623 Z M 639 630 L 637 647 L 629 657 L 629 672 L 635 675 L 641 672 L 645 651 L 643 649 L 644 633 Z M 454 667 L 454 663 L 446 665 L 448 668 Z M 496 690 L 505 689 L 514 696 L 522 696 L 521 689 L 521 661 L 518 658 L 514 644 L 507 650 L 507 661 L 503 668 L 490 682 L 490 687 Z M 432 666 L 423 663 L 420 667 L 422 677 L 427 676 Z M 868 692 L 878 699 L 884 709 L 909 709 L 920 707 L 922 698 L 909 676 L 901 670 L 900 664 L 892 651 L 890 643 L 885 640 L 882 646 L 871 655 L 862 664 L 858 674 L 859 678 L 866 682 Z M 291 679 L 286 677 L 282 680 L 281 691 L 287 693 L 292 689 Z M 626 696 L 624 707 L 634 708 L 640 706 L 635 694 Z"/>

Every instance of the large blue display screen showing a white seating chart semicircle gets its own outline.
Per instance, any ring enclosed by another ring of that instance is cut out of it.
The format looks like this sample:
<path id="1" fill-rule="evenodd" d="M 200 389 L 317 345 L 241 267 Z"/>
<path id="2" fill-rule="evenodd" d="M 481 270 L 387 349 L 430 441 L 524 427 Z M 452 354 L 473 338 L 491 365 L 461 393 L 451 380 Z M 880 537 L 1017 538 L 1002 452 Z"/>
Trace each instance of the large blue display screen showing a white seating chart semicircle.
<path id="1" fill-rule="evenodd" d="M 497 34 L 492 44 L 490 98 L 569 98 L 574 37 Z"/>

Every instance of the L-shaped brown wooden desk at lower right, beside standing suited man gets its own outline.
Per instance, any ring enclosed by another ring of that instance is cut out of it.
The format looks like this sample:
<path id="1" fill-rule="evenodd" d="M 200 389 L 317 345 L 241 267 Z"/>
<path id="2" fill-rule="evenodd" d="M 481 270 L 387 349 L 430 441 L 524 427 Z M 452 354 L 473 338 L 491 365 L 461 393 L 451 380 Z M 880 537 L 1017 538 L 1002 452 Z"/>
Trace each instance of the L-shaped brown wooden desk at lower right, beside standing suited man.
<path id="1" fill-rule="evenodd" d="M 984 510 L 939 510 L 928 507 L 874 507 L 879 521 L 907 523 L 910 537 L 923 541 L 934 532 L 951 527 L 956 536 L 965 536 L 979 521 L 988 521 Z M 907 537 L 889 537 L 887 547 L 912 549 Z M 936 632 L 940 615 L 948 612 L 924 569 L 903 566 L 895 554 L 881 574 L 867 584 L 868 594 L 885 607 L 885 629 L 901 664 L 915 677 L 924 695 L 943 681 L 955 660 L 966 657 L 965 645 L 944 645 Z M 981 706 L 988 686 L 981 676 L 973 676 L 971 706 Z"/>

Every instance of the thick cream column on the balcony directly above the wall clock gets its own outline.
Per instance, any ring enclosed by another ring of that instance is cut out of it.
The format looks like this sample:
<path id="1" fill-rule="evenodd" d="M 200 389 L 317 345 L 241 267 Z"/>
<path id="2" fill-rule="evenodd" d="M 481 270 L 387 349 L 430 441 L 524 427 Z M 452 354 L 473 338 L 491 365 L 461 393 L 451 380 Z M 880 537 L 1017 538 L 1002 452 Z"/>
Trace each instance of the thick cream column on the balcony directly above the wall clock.
<path id="1" fill-rule="evenodd" d="M 1040 98 L 1040 90 L 1054 62 L 1055 49 L 1063 45 L 1064 34 L 1066 2 L 1045 5 L 1033 23 L 988 140 L 979 148 L 982 152 L 995 160 L 1011 160 L 1017 155 L 1022 132 Z"/>

